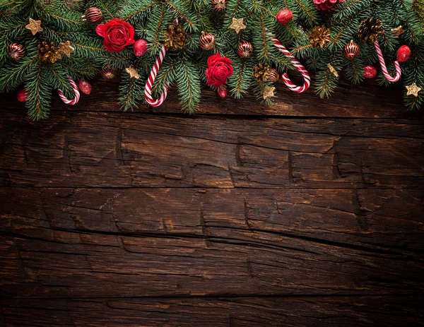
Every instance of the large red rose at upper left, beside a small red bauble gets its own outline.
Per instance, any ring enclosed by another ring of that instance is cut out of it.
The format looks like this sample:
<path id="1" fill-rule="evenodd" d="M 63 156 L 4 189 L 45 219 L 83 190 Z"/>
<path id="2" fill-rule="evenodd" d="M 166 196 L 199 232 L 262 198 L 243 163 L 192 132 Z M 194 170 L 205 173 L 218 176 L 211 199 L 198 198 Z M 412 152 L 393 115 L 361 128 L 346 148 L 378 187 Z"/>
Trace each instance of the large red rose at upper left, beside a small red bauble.
<path id="1" fill-rule="evenodd" d="M 112 19 L 105 24 L 100 24 L 95 31 L 105 37 L 103 45 L 109 52 L 121 52 L 127 45 L 133 44 L 134 28 L 122 19 Z"/>

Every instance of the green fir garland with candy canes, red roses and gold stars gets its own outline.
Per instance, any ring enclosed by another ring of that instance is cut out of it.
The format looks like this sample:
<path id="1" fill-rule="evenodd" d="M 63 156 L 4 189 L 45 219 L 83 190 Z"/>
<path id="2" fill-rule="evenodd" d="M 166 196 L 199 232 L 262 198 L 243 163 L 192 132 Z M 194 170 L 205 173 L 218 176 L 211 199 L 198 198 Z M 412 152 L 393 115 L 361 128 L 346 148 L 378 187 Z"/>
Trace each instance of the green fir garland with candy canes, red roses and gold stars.
<path id="1" fill-rule="evenodd" d="M 408 109 L 424 101 L 424 0 L 0 0 L 0 43 L 0 92 L 18 90 L 33 119 L 48 117 L 54 93 L 75 105 L 90 78 L 117 72 L 124 110 L 177 87 L 194 112 L 202 81 L 271 105 L 273 83 L 302 93 L 308 71 L 320 97 L 343 73 L 401 79 Z"/>

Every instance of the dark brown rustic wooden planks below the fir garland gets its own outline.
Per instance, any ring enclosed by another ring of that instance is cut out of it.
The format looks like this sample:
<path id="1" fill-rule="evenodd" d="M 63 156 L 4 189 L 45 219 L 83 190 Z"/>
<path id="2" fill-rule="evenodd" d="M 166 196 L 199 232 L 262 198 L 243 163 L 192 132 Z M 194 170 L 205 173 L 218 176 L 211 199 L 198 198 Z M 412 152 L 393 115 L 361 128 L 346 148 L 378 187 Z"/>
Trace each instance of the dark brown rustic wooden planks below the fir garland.
<path id="1" fill-rule="evenodd" d="M 423 112 L 401 88 L 0 107 L 0 325 L 423 326 Z"/>

